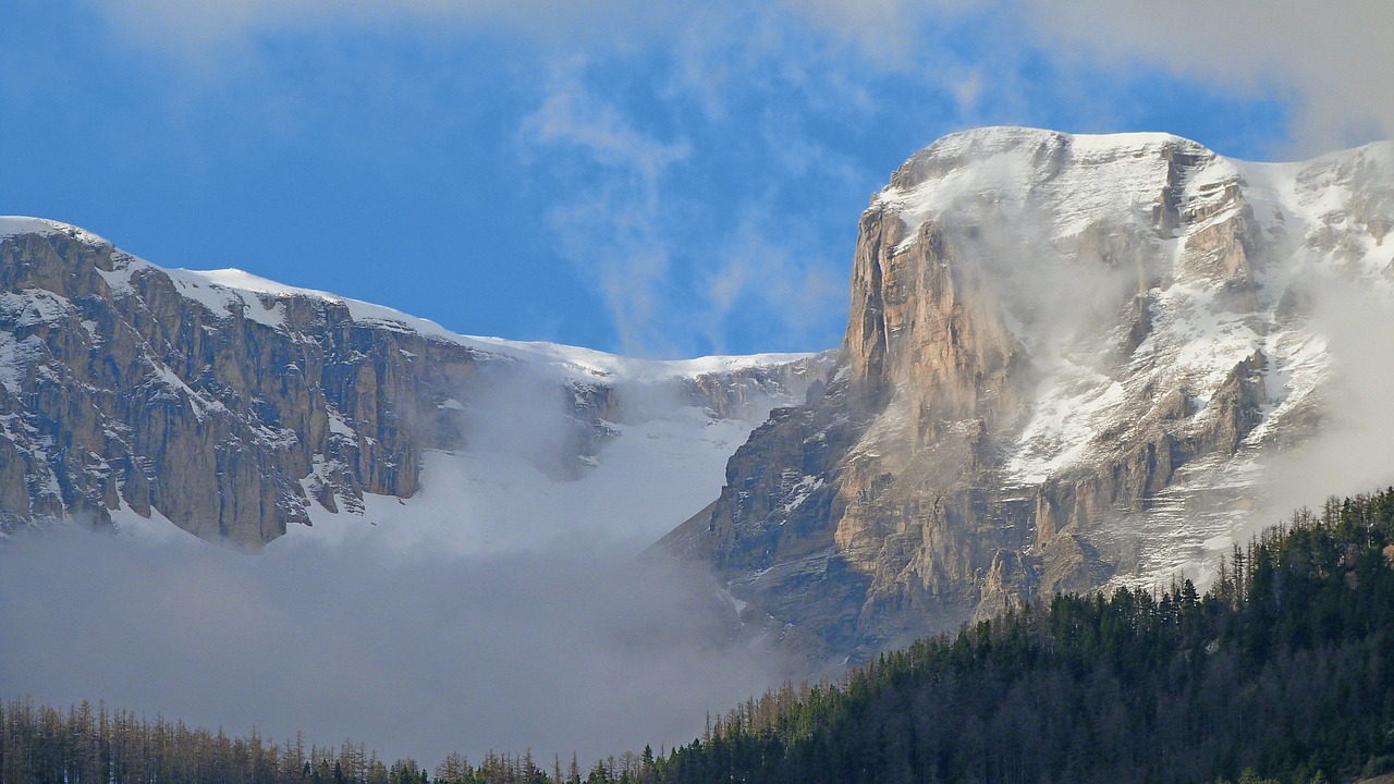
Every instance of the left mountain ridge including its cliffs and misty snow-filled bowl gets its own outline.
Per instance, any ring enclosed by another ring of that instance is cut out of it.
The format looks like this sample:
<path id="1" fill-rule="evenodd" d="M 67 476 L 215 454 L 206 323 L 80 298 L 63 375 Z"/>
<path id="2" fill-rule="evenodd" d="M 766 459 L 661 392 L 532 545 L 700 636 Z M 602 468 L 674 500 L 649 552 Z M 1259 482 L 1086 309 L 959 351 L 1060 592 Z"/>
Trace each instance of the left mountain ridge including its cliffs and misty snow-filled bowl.
<path id="1" fill-rule="evenodd" d="M 647 544 L 829 361 L 467 338 L 0 218 L 0 536 L 67 518 L 251 550 L 287 533 Z"/>

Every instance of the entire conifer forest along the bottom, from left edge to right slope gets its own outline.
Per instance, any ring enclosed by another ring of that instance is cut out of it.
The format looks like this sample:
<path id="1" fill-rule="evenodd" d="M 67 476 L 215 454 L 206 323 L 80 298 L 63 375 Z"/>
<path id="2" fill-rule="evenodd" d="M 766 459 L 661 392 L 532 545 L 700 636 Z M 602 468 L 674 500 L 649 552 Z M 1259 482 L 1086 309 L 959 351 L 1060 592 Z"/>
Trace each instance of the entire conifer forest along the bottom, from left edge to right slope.
<path id="1" fill-rule="evenodd" d="M 230 738 L 89 704 L 0 710 L 21 783 L 1337 783 L 1394 770 L 1394 488 L 1302 511 L 1200 596 L 1055 596 L 838 684 L 785 685 L 690 745 L 577 766 Z"/>

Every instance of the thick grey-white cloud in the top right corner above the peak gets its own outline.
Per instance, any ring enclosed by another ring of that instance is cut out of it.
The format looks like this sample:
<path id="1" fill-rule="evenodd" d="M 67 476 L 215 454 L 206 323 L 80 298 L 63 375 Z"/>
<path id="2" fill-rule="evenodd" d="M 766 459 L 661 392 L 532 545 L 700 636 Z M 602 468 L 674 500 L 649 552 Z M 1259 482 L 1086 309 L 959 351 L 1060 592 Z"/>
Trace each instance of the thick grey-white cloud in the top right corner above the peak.
<path id="1" fill-rule="evenodd" d="M 1026 0 L 1057 53 L 1160 64 L 1223 89 L 1294 99 L 1294 155 L 1394 134 L 1394 4 L 1383 0 Z"/>

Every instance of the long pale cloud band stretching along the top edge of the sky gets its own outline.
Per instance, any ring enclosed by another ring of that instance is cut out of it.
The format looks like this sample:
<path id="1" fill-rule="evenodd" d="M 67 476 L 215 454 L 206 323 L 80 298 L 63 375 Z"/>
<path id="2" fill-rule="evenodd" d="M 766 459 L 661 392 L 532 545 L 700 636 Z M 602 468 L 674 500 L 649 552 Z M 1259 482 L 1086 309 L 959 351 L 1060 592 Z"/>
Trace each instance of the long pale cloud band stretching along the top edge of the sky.
<path id="1" fill-rule="evenodd" d="M 407 27 L 434 36 L 492 31 L 548 46 L 567 42 L 560 49 L 569 54 L 654 42 L 682 49 L 697 38 L 732 40 L 733 32 L 750 43 L 760 40 L 763 31 L 772 31 L 775 35 L 767 43 L 783 47 L 786 64 L 797 64 L 809 43 L 815 45 L 814 52 L 818 46 L 845 46 L 856 49 L 857 67 L 868 77 L 875 71 L 921 70 L 955 47 L 940 31 L 965 18 L 987 18 L 993 40 L 967 42 L 976 50 L 972 57 L 977 66 L 1011 60 L 1037 46 L 1061 61 L 1085 56 L 1125 70 L 1161 66 L 1224 89 L 1292 99 L 1301 109 L 1299 141 L 1308 148 L 1305 152 L 1394 133 L 1394 89 L 1390 89 L 1394 74 L 1384 61 L 1387 38 L 1394 31 L 1394 7 L 1380 0 L 1326 4 L 1181 0 L 1164 13 L 1143 0 L 967 4 L 785 0 L 753 7 L 655 6 L 637 0 L 86 0 L 86 4 L 131 40 L 194 57 L 206 54 L 209 47 L 240 46 L 277 31 L 336 24 Z M 740 27 L 732 28 L 732 21 Z M 775 27 L 764 28 L 765 22 Z M 786 47 L 792 38 L 799 38 L 800 31 L 790 35 L 792 27 L 814 32 L 815 38 L 799 40 L 800 47 Z M 972 73 L 974 63 L 966 66 L 966 73 Z M 704 78 L 722 84 L 733 73 L 717 68 Z"/>

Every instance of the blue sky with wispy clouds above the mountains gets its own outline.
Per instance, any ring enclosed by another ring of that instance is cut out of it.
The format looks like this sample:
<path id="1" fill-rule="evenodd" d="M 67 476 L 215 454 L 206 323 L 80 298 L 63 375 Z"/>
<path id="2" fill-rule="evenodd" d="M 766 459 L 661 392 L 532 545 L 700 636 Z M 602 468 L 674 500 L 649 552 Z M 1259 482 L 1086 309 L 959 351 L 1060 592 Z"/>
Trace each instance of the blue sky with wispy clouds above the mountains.
<path id="1" fill-rule="evenodd" d="M 1249 159 L 1383 138 L 1390 6 L 7 0 L 0 213 L 463 333 L 815 350 L 916 149 L 983 124 Z"/>

